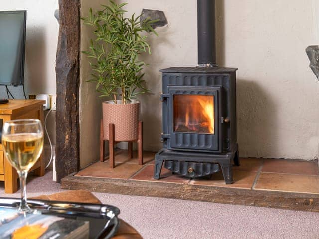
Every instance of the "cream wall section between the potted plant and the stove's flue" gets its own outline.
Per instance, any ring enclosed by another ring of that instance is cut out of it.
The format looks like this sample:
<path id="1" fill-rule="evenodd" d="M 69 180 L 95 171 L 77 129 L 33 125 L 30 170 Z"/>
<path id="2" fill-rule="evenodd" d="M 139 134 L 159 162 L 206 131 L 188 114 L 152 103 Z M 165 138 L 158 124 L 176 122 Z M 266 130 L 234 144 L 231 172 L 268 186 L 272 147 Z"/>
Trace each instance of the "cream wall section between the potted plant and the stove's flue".
<path id="1" fill-rule="evenodd" d="M 160 69 L 172 66 L 197 64 L 197 15 L 195 0 L 118 0 L 128 2 L 127 15 L 141 14 L 143 8 L 164 11 L 168 25 L 156 28 L 159 36 L 149 35 L 152 54 L 141 59 L 150 64 L 145 69 L 145 80 L 151 94 L 139 97 L 141 119 L 144 121 L 144 149 L 161 148 L 161 73 Z"/>

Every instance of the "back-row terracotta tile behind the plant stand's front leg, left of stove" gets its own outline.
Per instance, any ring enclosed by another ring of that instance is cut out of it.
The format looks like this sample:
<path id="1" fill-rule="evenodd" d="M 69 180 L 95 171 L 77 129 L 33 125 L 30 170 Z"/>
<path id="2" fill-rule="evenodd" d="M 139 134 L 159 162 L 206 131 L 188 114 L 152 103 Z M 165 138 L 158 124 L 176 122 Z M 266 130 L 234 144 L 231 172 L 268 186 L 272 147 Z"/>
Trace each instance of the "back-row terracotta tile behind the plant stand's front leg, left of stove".
<path id="1" fill-rule="evenodd" d="M 143 152 L 143 163 L 146 164 L 146 163 L 154 160 L 155 154 L 156 153 L 154 153 L 154 152 L 144 151 Z M 125 162 L 125 163 L 138 164 L 138 152 L 133 151 L 133 158 L 129 159 L 128 158 L 128 150 L 118 149 L 115 151 L 114 159 L 115 159 L 115 162 L 117 162 L 117 163 L 124 163 Z M 109 157 L 107 156 L 105 158 L 105 161 L 108 161 L 108 160 L 109 160 Z"/>

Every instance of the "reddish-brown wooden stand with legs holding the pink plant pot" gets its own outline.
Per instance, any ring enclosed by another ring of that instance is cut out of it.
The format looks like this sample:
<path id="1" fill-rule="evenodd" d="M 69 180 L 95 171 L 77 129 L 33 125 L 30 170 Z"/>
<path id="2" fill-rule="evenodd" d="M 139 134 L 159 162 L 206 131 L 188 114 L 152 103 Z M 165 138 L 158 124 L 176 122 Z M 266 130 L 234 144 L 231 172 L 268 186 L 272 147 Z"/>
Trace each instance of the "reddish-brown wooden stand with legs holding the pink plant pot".
<path id="1" fill-rule="evenodd" d="M 133 143 L 138 143 L 138 161 L 139 165 L 143 165 L 143 121 L 139 121 L 138 127 L 138 139 L 128 142 L 128 158 L 133 158 Z M 109 141 L 109 159 L 110 159 L 110 167 L 115 167 L 114 160 L 114 145 L 119 143 L 115 141 L 115 126 L 114 124 L 109 124 L 109 139 L 104 139 L 103 133 L 103 120 L 101 120 L 101 128 L 100 128 L 100 161 L 104 161 L 104 141 Z"/>

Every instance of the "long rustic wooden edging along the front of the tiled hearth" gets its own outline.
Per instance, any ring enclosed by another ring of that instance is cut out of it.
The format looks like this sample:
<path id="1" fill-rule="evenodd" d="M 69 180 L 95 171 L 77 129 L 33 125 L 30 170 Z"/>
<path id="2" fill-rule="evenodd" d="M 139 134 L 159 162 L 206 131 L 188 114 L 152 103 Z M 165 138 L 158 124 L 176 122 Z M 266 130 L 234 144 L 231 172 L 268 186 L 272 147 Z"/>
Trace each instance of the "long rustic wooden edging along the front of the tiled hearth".
<path id="1" fill-rule="evenodd" d="M 70 175 L 61 180 L 63 189 L 164 197 L 204 202 L 272 207 L 319 212 L 319 194 L 223 188 L 182 183 L 94 178 Z"/>

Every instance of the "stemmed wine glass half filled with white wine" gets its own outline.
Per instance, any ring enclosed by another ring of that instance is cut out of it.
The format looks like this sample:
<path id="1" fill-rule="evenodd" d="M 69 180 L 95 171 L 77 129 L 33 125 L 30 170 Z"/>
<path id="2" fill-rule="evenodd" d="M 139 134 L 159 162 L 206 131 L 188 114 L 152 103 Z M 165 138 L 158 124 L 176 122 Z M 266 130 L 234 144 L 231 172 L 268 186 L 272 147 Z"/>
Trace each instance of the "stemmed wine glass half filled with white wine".
<path id="1" fill-rule="evenodd" d="M 20 212 L 32 212 L 26 200 L 26 177 L 43 149 L 43 128 L 38 119 L 7 121 L 2 129 L 2 145 L 7 160 L 20 178 Z"/>

